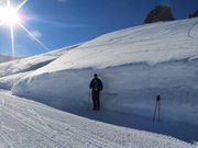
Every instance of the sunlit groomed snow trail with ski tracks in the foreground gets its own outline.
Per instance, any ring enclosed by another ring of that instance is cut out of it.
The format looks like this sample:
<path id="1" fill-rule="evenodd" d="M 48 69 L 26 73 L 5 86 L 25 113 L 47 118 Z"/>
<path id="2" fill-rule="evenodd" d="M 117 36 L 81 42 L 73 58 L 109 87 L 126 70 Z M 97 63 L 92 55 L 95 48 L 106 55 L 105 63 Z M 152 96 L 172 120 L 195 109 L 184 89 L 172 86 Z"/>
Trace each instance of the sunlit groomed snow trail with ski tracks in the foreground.
<path id="1" fill-rule="evenodd" d="M 75 116 L 0 92 L 1 148 L 196 148 L 132 128 Z"/>

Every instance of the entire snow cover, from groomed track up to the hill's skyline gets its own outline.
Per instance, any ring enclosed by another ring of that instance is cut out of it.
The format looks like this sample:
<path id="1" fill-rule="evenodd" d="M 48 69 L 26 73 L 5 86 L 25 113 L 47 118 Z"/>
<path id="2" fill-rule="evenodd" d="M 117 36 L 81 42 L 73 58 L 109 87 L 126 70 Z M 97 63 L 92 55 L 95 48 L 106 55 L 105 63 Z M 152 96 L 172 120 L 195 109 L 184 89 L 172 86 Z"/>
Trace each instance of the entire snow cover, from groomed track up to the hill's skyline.
<path id="1" fill-rule="evenodd" d="M 0 146 L 196 147 L 187 143 L 198 141 L 197 41 L 198 19 L 160 22 L 1 64 L 0 88 L 12 95 L 0 93 Z M 87 110 L 95 72 L 105 86 L 101 112 Z"/>

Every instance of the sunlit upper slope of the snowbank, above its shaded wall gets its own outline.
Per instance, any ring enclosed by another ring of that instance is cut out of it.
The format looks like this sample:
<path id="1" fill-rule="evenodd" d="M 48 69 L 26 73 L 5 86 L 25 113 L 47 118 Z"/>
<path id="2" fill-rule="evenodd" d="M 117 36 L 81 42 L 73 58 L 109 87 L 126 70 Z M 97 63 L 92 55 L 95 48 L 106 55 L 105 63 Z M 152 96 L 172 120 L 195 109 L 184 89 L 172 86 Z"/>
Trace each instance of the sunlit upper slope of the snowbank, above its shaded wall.
<path id="1" fill-rule="evenodd" d="M 58 58 L 47 69 L 103 69 L 154 65 L 198 56 L 198 19 L 154 23 L 102 35 Z"/>

